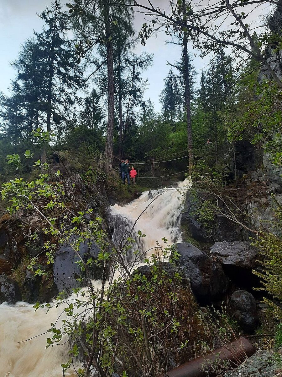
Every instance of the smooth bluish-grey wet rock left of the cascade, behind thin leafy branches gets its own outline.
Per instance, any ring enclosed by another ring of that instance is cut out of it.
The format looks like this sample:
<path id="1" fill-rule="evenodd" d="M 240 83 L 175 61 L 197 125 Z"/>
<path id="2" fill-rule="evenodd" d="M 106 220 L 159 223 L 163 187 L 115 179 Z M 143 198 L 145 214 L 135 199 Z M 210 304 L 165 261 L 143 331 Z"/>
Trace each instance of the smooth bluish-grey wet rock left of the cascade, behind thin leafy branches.
<path id="1" fill-rule="evenodd" d="M 70 242 L 75 242 L 75 239 L 70 240 Z M 97 259 L 99 252 L 100 248 L 94 241 L 80 242 L 78 253 L 84 262 L 87 262 L 89 257 Z M 53 265 L 54 280 L 59 292 L 63 290 L 69 292 L 71 288 L 77 288 L 86 284 L 86 282 L 83 284 L 83 282 L 79 283 L 76 280 L 81 276 L 79 265 L 76 263 L 79 260 L 80 258 L 69 244 L 61 245 L 56 253 Z M 101 266 L 95 262 L 89 267 L 89 272 L 91 279 L 100 279 L 102 277 Z"/>

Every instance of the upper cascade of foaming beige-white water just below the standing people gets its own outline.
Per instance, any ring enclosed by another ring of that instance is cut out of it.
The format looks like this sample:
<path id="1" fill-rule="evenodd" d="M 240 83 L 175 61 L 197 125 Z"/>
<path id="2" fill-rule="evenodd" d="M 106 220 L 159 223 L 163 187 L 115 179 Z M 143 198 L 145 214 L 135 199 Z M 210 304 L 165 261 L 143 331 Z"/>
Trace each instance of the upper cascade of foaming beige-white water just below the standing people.
<path id="1" fill-rule="evenodd" d="M 168 244 L 180 242 L 179 225 L 183 196 L 189 187 L 191 181 L 187 178 L 175 188 L 144 192 L 138 199 L 125 206 L 117 204 L 112 206 L 109 224 L 114 244 L 117 247 L 122 244 L 122 239 L 129 235 L 136 220 L 131 238 L 137 239 L 139 230 L 146 235 L 141 239 L 138 247 L 139 260 L 152 255 L 164 246 L 162 241 L 164 237 L 168 239 Z M 129 259 L 132 259 L 132 256 Z"/>

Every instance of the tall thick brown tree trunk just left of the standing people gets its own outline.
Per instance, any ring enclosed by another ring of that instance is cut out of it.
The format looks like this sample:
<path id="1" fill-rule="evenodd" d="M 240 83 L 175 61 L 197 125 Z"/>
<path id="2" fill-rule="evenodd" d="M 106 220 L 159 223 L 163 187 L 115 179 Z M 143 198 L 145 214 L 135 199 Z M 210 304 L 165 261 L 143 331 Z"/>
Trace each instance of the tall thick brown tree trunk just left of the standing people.
<path id="1" fill-rule="evenodd" d="M 113 67 L 113 49 L 111 41 L 111 25 L 109 20 L 109 1 L 105 5 L 105 29 L 107 40 L 107 69 L 108 69 L 108 123 L 105 147 L 105 170 L 110 172 L 113 163 L 113 134 L 114 134 L 114 67 Z"/>

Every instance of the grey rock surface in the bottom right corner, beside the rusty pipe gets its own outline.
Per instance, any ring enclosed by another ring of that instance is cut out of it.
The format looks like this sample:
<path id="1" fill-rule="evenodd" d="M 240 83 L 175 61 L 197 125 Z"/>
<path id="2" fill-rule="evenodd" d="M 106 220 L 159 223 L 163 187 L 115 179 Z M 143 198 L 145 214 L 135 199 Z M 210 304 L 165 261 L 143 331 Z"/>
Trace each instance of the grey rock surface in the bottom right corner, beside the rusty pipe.
<path id="1" fill-rule="evenodd" d="M 225 377 L 279 377 L 281 376 L 282 349 L 257 351 L 233 371 L 228 371 Z"/>

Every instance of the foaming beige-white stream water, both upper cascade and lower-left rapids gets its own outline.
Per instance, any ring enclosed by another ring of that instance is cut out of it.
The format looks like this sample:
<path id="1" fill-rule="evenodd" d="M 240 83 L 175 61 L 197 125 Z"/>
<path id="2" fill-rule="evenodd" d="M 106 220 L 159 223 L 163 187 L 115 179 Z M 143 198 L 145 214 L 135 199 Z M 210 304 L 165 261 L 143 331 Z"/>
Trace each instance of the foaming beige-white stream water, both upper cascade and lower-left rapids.
<path id="1" fill-rule="evenodd" d="M 179 242 L 183 195 L 190 186 L 190 179 L 185 179 L 177 188 L 145 192 L 124 207 L 111 207 L 113 242 L 117 246 L 123 242 L 136 220 L 131 236 L 137 238 L 139 230 L 146 234 L 138 247 L 141 255 L 139 261 L 159 250 L 164 244 L 161 238 L 168 239 L 168 244 Z M 128 256 L 129 261 L 132 255 Z M 100 282 L 94 284 L 99 288 Z M 75 297 L 71 296 L 68 301 L 73 299 Z M 61 363 L 67 361 L 68 344 L 45 349 L 46 338 L 50 337 L 50 333 L 43 333 L 51 328 L 51 323 L 56 322 L 63 310 L 64 306 L 59 305 L 52 307 L 46 314 L 46 308 L 39 308 L 35 312 L 32 305 L 24 302 L 0 305 L 0 377 L 62 376 Z M 61 316 L 60 320 L 63 318 Z M 65 372 L 66 377 L 75 375 L 73 370 Z"/>

